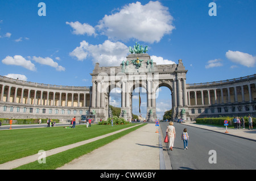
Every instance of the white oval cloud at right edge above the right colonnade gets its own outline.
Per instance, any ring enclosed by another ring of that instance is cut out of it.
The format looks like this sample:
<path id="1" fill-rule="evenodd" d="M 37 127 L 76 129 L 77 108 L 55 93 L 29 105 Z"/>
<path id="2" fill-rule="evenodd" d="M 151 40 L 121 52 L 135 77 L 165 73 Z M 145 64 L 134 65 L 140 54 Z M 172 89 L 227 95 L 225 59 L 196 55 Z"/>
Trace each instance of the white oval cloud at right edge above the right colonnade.
<path id="1" fill-rule="evenodd" d="M 247 66 L 248 68 L 254 67 L 254 64 L 256 63 L 256 56 L 239 51 L 228 50 L 228 52 L 226 52 L 226 57 L 230 61 Z"/>

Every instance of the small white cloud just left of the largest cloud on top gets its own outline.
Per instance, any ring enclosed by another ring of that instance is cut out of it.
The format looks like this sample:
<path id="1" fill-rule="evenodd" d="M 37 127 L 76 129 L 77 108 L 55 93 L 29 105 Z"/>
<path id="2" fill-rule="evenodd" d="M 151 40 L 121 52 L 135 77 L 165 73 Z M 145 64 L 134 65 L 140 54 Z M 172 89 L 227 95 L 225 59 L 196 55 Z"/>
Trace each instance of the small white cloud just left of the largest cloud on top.
<path id="1" fill-rule="evenodd" d="M 84 35 L 85 33 L 89 36 L 96 36 L 95 29 L 87 23 L 81 24 L 80 22 L 66 22 L 73 28 L 73 34 Z"/>

